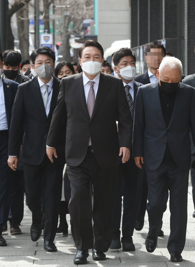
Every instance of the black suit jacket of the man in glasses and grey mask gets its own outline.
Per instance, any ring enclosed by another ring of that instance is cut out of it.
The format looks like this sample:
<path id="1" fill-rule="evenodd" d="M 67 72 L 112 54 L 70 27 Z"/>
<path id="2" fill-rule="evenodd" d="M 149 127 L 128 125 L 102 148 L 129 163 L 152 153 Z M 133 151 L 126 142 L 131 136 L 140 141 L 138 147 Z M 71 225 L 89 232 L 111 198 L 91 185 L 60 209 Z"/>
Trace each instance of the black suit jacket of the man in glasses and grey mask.
<path id="1" fill-rule="evenodd" d="M 53 90 L 48 117 L 45 112 L 37 77 L 18 86 L 16 99 L 12 108 L 12 119 L 9 133 L 9 155 L 18 155 L 23 121 L 25 133 L 23 137 L 22 161 L 31 165 L 39 165 L 46 153 L 46 140 L 59 94 L 60 80 L 53 77 Z M 63 128 L 63 124 L 61 127 Z M 62 141 L 61 136 L 58 136 Z M 58 163 L 64 154 L 64 142 L 57 144 Z M 65 157 L 65 156 L 64 156 Z"/>

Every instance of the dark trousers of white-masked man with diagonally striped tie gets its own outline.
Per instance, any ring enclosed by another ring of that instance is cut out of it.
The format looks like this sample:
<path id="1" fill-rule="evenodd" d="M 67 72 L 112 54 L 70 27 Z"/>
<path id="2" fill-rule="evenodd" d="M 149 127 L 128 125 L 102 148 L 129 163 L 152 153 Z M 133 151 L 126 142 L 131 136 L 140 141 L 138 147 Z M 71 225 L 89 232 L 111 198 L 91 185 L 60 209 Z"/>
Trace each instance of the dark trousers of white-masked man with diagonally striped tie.
<path id="1" fill-rule="evenodd" d="M 122 236 L 133 236 L 140 206 L 142 187 L 141 171 L 136 166 L 132 157 L 126 163 L 121 162 L 119 164 L 114 206 L 114 234 L 118 234 L 120 230 L 123 196 Z"/>

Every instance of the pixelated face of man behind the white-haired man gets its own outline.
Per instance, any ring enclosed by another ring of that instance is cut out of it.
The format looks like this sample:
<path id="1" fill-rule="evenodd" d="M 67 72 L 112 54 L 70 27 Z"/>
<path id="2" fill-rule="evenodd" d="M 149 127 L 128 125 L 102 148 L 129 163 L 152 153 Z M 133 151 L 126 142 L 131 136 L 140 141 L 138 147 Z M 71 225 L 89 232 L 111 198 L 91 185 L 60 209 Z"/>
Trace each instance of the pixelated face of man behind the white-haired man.
<path id="1" fill-rule="evenodd" d="M 164 56 L 161 48 L 151 48 L 150 52 L 147 52 L 145 56 L 147 67 L 158 69 Z"/>

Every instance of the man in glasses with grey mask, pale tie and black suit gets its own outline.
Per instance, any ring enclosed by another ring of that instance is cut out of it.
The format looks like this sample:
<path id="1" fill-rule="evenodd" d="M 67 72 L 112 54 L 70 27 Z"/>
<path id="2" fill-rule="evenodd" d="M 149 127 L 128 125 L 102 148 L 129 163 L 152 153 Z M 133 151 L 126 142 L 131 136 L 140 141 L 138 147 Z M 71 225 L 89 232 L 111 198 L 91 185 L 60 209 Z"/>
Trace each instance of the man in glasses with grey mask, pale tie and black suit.
<path id="1" fill-rule="evenodd" d="M 65 162 L 63 139 L 58 136 L 59 158 L 51 164 L 46 155 L 46 139 L 52 113 L 59 94 L 59 79 L 52 76 L 55 54 L 48 47 L 41 47 L 32 56 L 37 76 L 19 85 L 12 109 L 9 133 L 8 164 L 12 170 L 17 168 L 20 135 L 25 121 L 22 161 L 26 186 L 26 198 L 32 212 L 30 229 L 32 241 L 41 235 L 41 194 L 45 191 L 44 209 L 44 249 L 57 251 L 53 243 L 58 225 L 59 205 L 62 192 L 62 171 Z M 62 125 L 63 128 L 63 125 Z M 62 131 L 63 135 L 63 131 Z"/>

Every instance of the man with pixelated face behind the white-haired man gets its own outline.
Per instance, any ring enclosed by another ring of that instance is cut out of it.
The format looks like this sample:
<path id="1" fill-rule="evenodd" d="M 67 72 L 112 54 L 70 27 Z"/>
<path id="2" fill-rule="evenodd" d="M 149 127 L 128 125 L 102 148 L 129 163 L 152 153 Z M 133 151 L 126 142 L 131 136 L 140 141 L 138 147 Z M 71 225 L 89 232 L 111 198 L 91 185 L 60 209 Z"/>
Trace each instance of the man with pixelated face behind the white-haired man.
<path id="1" fill-rule="evenodd" d="M 154 83 L 158 79 L 156 78 L 157 69 L 160 66 L 162 58 L 165 57 L 166 49 L 161 44 L 161 41 L 154 41 L 149 44 L 145 45 L 145 61 L 147 64 L 147 71 L 143 74 L 139 74 L 135 76 L 134 80 L 143 83 Z M 143 171 L 144 178 L 143 178 L 143 186 L 142 186 L 142 193 L 141 193 L 141 201 L 140 201 L 140 208 L 137 216 L 137 221 L 135 224 L 135 229 L 137 231 L 142 230 L 144 227 L 144 217 L 146 213 L 146 204 L 147 204 L 147 178 L 146 173 Z M 163 236 L 164 233 L 161 230 L 159 236 Z"/>

